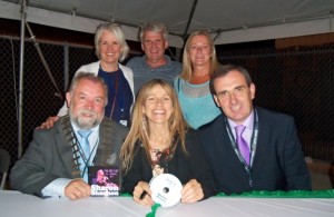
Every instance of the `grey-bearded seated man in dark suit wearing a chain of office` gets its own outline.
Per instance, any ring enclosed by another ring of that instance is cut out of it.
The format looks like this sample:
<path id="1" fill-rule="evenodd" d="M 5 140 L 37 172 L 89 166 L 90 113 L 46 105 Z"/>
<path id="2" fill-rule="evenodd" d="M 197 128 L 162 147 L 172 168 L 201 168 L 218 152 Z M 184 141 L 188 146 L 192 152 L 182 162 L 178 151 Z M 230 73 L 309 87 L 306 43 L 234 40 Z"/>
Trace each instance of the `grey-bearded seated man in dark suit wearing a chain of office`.
<path id="1" fill-rule="evenodd" d="M 119 166 L 118 152 L 128 129 L 104 117 L 108 99 L 104 80 L 80 72 L 66 99 L 69 116 L 49 129 L 36 129 L 26 154 L 12 168 L 13 189 L 41 197 L 79 199 L 90 195 L 89 166 Z M 89 132 L 88 140 L 81 138 L 80 130 Z"/>

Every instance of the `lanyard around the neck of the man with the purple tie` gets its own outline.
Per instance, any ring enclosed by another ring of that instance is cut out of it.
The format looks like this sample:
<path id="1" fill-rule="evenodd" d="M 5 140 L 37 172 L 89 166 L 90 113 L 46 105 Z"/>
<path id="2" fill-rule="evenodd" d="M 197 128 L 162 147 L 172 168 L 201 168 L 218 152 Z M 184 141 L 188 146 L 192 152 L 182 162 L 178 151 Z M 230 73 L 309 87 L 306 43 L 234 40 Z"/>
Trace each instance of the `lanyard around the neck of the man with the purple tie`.
<path id="1" fill-rule="evenodd" d="M 225 118 L 225 127 L 226 127 L 226 131 L 228 134 L 228 138 L 232 145 L 232 148 L 234 149 L 236 156 L 238 157 L 239 161 L 243 164 L 247 175 L 248 175 L 248 179 L 249 179 L 249 186 L 252 187 L 252 166 L 253 166 L 253 161 L 254 161 L 254 157 L 255 157 L 255 152 L 256 152 L 256 146 L 257 146 L 257 136 L 258 136 L 258 116 L 257 116 L 257 111 L 256 109 L 254 109 L 254 117 L 255 117 L 255 121 L 254 121 L 254 130 L 253 130 L 253 135 L 252 135 L 252 139 L 250 139 L 250 161 L 249 161 L 249 166 L 245 162 L 245 159 L 243 158 L 242 154 L 239 152 L 237 145 L 236 145 L 236 140 L 234 139 L 234 136 L 232 134 L 232 129 L 228 125 L 227 118 Z"/>

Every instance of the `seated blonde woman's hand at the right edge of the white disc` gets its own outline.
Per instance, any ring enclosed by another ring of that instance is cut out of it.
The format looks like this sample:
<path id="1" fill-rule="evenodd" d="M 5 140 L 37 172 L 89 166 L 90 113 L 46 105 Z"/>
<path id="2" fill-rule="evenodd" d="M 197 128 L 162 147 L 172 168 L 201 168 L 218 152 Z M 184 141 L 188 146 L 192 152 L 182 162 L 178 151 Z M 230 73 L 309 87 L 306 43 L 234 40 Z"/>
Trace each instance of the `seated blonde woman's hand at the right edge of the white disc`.
<path id="1" fill-rule="evenodd" d="M 189 180 L 181 190 L 181 203 L 189 204 L 203 199 L 204 193 L 196 179 Z"/>

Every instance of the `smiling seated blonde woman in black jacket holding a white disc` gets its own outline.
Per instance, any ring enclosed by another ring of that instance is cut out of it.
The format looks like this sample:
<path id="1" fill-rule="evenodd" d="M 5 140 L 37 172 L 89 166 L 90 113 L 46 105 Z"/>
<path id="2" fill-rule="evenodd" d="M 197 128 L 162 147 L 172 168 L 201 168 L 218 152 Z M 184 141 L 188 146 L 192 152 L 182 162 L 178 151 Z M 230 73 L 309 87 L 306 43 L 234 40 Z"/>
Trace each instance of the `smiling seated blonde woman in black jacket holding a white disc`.
<path id="1" fill-rule="evenodd" d="M 159 174 L 156 171 L 159 168 L 183 184 L 181 203 L 215 195 L 212 170 L 197 134 L 187 127 L 170 85 L 160 79 L 145 83 L 138 92 L 131 121 L 120 151 L 124 193 L 132 194 L 134 200 L 141 205 L 154 205 L 148 183 Z"/>

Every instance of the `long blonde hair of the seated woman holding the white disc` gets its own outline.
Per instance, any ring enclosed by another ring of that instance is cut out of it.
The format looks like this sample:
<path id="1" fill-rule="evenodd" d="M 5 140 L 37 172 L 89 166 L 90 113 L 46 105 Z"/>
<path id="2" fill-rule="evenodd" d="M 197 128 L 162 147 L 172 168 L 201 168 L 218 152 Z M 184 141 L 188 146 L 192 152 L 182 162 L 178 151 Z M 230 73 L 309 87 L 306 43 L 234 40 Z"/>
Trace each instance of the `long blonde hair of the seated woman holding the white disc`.
<path id="1" fill-rule="evenodd" d="M 153 79 L 140 88 L 137 99 L 134 106 L 132 116 L 131 116 L 131 127 L 130 131 L 121 146 L 120 149 L 120 159 L 122 161 L 122 170 L 126 174 L 132 166 L 135 151 L 137 150 L 138 145 L 143 145 L 146 151 L 147 159 L 150 159 L 149 154 L 149 142 L 148 137 L 150 135 L 147 117 L 143 114 L 143 106 L 147 99 L 149 90 L 156 86 L 161 86 L 167 95 L 171 99 L 173 112 L 168 120 L 169 124 L 169 135 L 170 135 L 170 154 L 174 154 L 176 150 L 177 144 L 180 141 L 184 152 L 187 155 L 186 145 L 185 145 L 185 135 L 188 129 L 187 124 L 184 119 L 177 96 L 171 88 L 171 86 L 161 80 Z M 174 140 L 173 140 L 174 139 Z M 138 144 L 139 142 L 139 144 Z"/>

